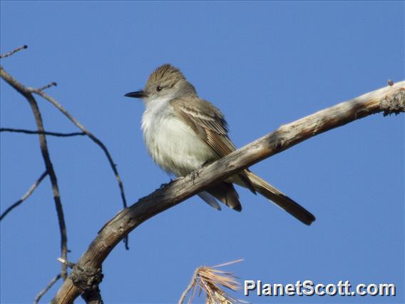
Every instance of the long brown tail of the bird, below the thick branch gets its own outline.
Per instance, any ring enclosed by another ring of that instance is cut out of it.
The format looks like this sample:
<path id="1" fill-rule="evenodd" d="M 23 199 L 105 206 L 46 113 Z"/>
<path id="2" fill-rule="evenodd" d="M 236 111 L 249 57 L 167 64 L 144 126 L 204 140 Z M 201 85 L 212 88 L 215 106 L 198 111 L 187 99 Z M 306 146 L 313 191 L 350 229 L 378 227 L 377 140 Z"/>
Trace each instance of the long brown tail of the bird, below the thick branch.
<path id="1" fill-rule="evenodd" d="M 267 181 L 264 181 L 255 173 L 252 173 L 250 171 L 245 171 L 245 173 L 258 193 L 260 193 L 262 196 L 265 196 L 265 198 L 269 199 L 277 206 L 287 211 L 289 214 L 294 216 L 294 218 L 297 218 L 297 220 L 302 221 L 302 223 L 306 225 L 311 225 L 311 223 L 315 221 L 315 217 L 312 215 L 312 213 L 307 211 L 298 203 L 292 201 L 291 198 L 286 196 L 281 191 L 277 190 L 275 187 L 270 185 L 270 183 L 267 183 Z"/>

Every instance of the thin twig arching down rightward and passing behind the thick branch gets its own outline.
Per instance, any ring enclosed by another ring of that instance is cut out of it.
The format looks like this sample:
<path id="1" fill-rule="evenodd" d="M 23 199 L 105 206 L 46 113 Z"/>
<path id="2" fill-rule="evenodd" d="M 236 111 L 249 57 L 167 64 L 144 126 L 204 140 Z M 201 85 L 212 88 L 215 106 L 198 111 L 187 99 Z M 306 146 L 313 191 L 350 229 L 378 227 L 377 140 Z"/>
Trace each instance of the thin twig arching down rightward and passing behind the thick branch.
<path id="1" fill-rule="evenodd" d="M 91 133 L 90 131 L 88 131 L 81 123 L 78 122 L 78 120 L 76 118 L 74 118 L 71 113 L 69 113 L 68 111 L 66 111 L 65 108 L 63 108 L 63 106 L 61 106 L 60 103 L 58 103 L 58 101 L 56 101 L 54 98 L 52 98 L 51 96 L 48 96 L 48 94 L 43 93 L 43 91 L 38 90 L 36 88 L 28 88 L 29 91 L 31 91 L 32 93 L 36 93 L 39 96 L 41 96 L 42 98 L 46 99 L 46 101 L 49 101 L 50 103 L 53 104 L 53 106 L 56 106 L 56 108 L 58 108 L 59 111 L 61 111 L 63 113 L 63 115 L 65 115 L 73 124 L 75 124 L 78 128 L 81 129 L 81 131 L 83 131 L 84 133 L 86 133 L 86 135 L 91 138 L 92 141 L 94 141 L 98 146 L 100 146 L 100 148 L 103 150 L 103 152 L 106 154 L 106 157 L 108 159 L 108 163 L 110 163 L 111 168 L 113 169 L 113 173 L 116 176 L 116 180 L 118 182 L 118 187 L 120 188 L 120 192 L 121 192 L 121 200 L 123 201 L 123 208 L 127 208 L 127 203 L 126 203 L 126 198 L 125 198 L 125 192 L 124 192 L 124 186 L 123 186 L 123 182 L 121 181 L 121 176 L 118 173 L 117 167 L 116 167 L 116 163 L 114 163 L 113 161 L 113 157 L 111 156 L 110 152 L 108 151 L 107 147 L 104 145 L 104 143 L 99 140 L 93 133 Z M 124 243 L 125 243 L 125 248 L 128 250 L 128 235 L 125 236 L 124 238 Z"/>

